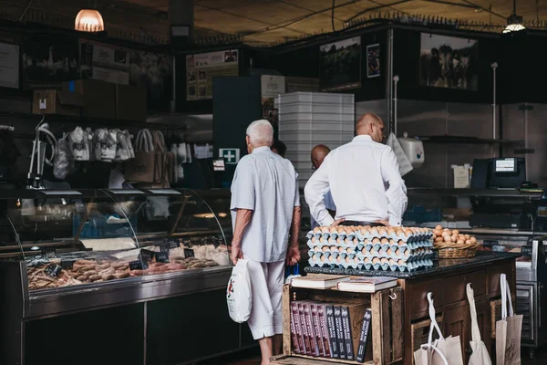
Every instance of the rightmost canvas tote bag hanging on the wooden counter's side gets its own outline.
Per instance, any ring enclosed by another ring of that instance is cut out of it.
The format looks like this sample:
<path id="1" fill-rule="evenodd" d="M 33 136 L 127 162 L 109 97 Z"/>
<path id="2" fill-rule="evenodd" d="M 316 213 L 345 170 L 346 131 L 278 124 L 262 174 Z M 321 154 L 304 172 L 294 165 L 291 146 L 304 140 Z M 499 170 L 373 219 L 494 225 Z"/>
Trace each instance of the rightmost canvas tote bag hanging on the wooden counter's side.
<path id="1" fill-rule="evenodd" d="M 515 315 L 511 303 L 511 288 L 507 276 L 500 276 L 501 319 L 496 322 L 496 364 L 521 364 L 522 315 Z M 507 305 L 509 303 L 509 316 Z"/>

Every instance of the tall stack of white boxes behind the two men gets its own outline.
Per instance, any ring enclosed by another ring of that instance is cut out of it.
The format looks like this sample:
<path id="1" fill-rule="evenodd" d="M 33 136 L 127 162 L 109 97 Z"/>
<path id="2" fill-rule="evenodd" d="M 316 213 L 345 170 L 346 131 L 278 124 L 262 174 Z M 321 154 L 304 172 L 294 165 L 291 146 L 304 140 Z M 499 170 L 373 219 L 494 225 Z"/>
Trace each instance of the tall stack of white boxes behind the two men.
<path id="1" fill-rule="evenodd" d="M 353 94 L 294 92 L 278 96 L 279 140 L 287 146 L 286 158 L 293 162 L 304 187 L 314 172 L 310 151 L 317 144 L 331 150 L 354 137 Z"/>

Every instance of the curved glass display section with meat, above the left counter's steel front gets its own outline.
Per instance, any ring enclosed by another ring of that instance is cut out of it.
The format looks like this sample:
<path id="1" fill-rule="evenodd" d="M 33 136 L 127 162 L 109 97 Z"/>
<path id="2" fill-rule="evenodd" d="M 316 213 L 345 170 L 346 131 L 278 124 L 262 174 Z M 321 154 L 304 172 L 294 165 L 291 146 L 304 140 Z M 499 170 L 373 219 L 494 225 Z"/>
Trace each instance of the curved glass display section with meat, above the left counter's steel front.
<path id="1" fill-rule="evenodd" d="M 231 265 L 218 215 L 190 190 L 12 193 L 0 257 L 25 263 L 29 291 Z"/>

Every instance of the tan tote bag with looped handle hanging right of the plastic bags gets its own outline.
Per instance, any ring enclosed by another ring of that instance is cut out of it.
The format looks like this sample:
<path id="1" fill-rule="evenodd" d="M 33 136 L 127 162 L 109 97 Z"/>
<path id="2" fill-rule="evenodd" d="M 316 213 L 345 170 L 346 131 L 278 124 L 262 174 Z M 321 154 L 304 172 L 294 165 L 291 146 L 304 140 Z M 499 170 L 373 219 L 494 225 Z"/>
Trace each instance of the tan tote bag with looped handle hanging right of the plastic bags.
<path id="1" fill-rule="evenodd" d="M 135 158 L 125 165 L 125 180 L 135 183 L 154 183 L 156 153 L 150 130 L 140 130 L 135 140 Z"/>

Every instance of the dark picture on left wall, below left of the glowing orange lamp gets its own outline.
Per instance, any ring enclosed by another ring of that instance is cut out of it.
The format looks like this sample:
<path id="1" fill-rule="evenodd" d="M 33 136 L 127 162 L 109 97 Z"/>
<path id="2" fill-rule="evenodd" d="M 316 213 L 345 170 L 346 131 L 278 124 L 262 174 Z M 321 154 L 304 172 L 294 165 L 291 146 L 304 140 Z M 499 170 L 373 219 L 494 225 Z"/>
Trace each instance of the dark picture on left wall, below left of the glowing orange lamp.
<path id="1" fill-rule="evenodd" d="M 26 36 L 22 52 L 25 89 L 59 89 L 63 82 L 80 77 L 76 37 Z"/>

